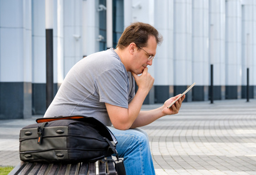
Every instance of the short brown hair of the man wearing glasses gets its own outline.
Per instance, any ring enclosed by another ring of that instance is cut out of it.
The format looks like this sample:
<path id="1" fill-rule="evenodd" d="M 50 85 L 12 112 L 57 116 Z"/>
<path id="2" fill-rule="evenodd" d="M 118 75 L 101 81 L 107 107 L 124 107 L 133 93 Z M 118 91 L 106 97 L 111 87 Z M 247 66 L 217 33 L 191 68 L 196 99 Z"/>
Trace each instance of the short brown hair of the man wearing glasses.
<path id="1" fill-rule="evenodd" d="M 158 45 L 163 41 L 163 37 L 158 33 L 158 30 L 150 24 L 141 22 L 132 23 L 122 33 L 117 47 L 122 50 L 131 43 L 135 43 L 140 47 L 146 47 L 149 36 L 154 36 Z M 140 48 L 138 47 L 138 49 Z"/>

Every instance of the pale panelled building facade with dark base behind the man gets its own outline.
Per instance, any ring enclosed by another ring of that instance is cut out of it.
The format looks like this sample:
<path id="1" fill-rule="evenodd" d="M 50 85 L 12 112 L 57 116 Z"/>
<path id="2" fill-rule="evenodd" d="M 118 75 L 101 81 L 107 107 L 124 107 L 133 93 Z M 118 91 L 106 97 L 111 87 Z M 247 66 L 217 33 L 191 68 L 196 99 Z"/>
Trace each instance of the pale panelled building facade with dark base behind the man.
<path id="1" fill-rule="evenodd" d="M 163 36 L 149 67 L 155 78 L 145 104 L 163 103 L 196 86 L 185 101 L 256 97 L 254 0 L 52 0 L 54 93 L 83 57 L 117 45 L 132 22 Z M 0 119 L 46 111 L 46 6 L 0 0 Z"/>

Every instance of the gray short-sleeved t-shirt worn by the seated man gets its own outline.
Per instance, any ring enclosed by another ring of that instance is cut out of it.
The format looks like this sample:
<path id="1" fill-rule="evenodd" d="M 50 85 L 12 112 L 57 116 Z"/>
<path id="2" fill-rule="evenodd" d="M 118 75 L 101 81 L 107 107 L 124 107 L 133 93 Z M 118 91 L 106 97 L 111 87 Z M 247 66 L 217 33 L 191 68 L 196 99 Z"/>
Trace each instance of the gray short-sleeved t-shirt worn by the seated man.
<path id="1" fill-rule="evenodd" d="M 110 126 L 105 103 L 128 108 L 134 95 L 134 77 L 111 48 L 83 58 L 70 69 L 44 117 L 84 115 Z"/>

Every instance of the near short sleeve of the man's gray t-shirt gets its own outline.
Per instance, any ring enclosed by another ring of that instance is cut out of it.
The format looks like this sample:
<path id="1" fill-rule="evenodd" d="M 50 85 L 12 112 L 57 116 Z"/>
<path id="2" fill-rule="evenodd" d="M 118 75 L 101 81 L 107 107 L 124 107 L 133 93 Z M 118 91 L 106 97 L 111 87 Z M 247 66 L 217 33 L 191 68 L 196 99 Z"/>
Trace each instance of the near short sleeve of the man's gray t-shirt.
<path id="1" fill-rule="evenodd" d="M 100 102 L 128 108 L 128 76 L 119 69 L 110 69 L 95 79 Z"/>

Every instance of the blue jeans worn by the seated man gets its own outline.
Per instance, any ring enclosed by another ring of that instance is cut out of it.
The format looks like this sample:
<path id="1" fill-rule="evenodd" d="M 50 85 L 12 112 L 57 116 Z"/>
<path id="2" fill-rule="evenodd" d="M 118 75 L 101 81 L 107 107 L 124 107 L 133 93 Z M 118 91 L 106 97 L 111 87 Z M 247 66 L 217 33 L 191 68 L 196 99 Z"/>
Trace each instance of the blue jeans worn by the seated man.
<path id="1" fill-rule="evenodd" d="M 142 129 L 119 130 L 114 127 L 111 132 L 117 138 L 117 152 L 119 157 L 124 157 L 124 166 L 127 175 L 155 174 L 148 135 Z"/>

